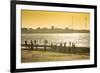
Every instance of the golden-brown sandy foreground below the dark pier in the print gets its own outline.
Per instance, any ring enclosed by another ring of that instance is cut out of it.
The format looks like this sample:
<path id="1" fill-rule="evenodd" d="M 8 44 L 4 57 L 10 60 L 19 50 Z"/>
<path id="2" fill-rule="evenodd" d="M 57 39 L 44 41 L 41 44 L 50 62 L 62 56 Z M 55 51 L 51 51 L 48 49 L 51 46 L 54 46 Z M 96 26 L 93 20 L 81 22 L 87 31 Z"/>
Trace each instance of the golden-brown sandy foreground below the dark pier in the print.
<path id="1" fill-rule="evenodd" d="M 21 62 L 89 60 L 87 54 L 69 54 L 45 51 L 21 50 Z"/>

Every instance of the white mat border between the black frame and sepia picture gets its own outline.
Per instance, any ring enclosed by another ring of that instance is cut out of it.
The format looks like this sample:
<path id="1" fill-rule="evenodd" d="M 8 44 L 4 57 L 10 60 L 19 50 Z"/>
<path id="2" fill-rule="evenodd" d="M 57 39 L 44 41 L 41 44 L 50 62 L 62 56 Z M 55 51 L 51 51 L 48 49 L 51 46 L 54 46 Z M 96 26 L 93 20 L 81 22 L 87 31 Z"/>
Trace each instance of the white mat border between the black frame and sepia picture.
<path id="1" fill-rule="evenodd" d="M 53 67 L 53 66 L 71 66 L 71 65 L 84 65 L 94 63 L 94 33 L 90 32 L 90 60 L 81 61 L 60 61 L 60 62 L 40 62 L 40 63 L 21 63 L 21 9 L 26 10 L 48 10 L 48 11 L 64 11 L 64 12 L 88 12 L 90 13 L 90 31 L 94 31 L 94 10 L 70 7 L 50 7 L 50 6 L 35 6 L 35 5 L 17 5 L 16 6 L 16 67 L 17 68 L 38 68 L 38 67 Z"/>

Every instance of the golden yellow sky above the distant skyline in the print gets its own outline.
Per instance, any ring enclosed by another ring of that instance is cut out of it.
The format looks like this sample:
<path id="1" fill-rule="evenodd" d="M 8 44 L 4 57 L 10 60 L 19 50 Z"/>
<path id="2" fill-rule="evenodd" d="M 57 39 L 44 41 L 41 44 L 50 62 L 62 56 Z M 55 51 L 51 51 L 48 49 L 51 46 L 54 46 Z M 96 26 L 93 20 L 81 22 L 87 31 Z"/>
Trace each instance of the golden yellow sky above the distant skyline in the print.
<path id="1" fill-rule="evenodd" d="M 90 29 L 90 14 L 79 12 L 55 12 L 21 10 L 22 28 L 73 28 Z"/>

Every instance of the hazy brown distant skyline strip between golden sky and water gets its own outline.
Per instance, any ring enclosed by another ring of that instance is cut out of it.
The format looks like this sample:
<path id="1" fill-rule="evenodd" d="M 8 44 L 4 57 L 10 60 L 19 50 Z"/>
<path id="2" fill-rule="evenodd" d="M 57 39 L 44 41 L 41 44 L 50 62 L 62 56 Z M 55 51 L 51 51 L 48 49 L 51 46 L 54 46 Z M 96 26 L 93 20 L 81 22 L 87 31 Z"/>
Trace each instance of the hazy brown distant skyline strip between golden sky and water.
<path id="1" fill-rule="evenodd" d="M 37 27 L 36 29 L 33 28 L 22 28 L 22 33 L 89 33 L 89 30 L 73 30 L 66 27 L 65 29 L 62 28 L 55 28 L 51 26 L 51 28 L 40 28 Z"/>

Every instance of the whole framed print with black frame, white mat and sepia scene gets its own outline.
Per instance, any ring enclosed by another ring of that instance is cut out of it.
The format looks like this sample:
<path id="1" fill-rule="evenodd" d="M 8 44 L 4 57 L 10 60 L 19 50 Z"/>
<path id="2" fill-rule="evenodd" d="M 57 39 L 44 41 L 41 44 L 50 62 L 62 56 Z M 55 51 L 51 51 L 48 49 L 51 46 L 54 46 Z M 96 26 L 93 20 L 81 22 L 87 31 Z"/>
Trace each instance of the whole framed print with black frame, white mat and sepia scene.
<path id="1" fill-rule="evenodd" d="M 11 1 L 11 72 L 96 66 L 96 6 Z"/>

